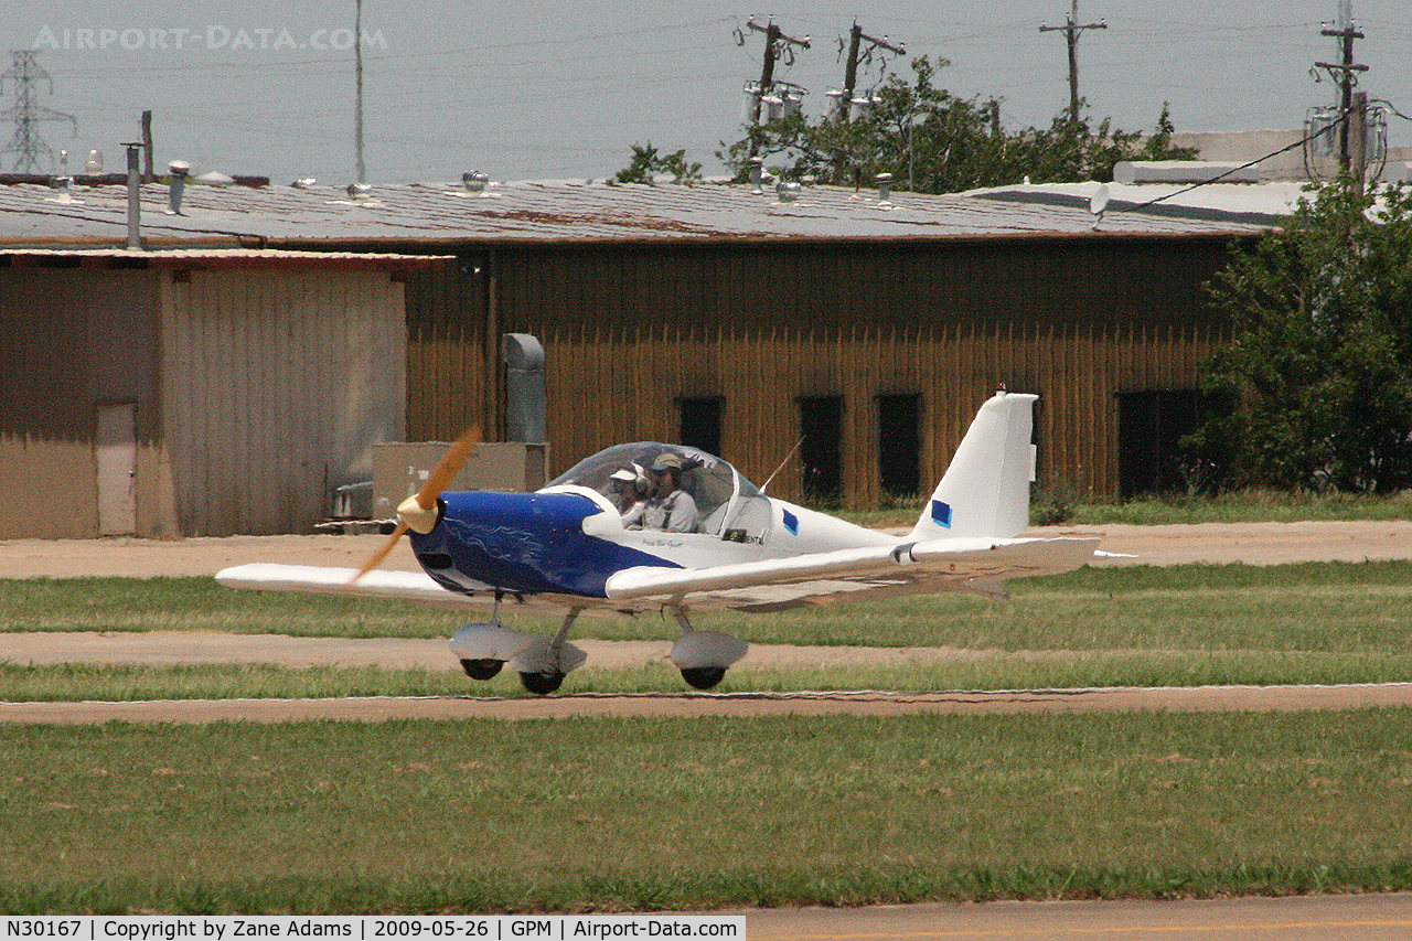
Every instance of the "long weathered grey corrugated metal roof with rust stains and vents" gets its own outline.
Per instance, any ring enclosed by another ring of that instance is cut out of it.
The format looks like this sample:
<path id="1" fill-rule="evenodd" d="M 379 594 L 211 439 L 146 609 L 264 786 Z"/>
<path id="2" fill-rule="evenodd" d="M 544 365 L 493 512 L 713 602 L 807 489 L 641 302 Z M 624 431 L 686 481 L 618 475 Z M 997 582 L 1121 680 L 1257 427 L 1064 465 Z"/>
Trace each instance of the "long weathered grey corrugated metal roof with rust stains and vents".
<path id="1" fill-rule="evenodd" d="M 143 187 L 143 236 L 150 243 L 243 244 L 346 240 L 361 244 L 442 242 L 580 242 L 676 239 L 902 239 L 1001 235 L 1082 235 L 1093 216 L 1082 201 L 1053 205 L 986 194 L 894 192 L 805 187 L 798 201 L 748 185 L 609 185 L 589 181 L 513 182 L 469 194 L 452 184 L 376 187 L 350 199 L 332 187 L 186 188 L 185 215 L 167 215 L 167 187 Z M 1063 202 L 1063 201 L 1060 201 Z M 75 187 L 64 201 L 32 184 L 0 187 L 0 244 L 112 244 L 126 237 L 124 187 Z M 1110 212 L 1108 233 L 1199 235 L 1254 232 L 1264 216 L 1183 211 Z"/>

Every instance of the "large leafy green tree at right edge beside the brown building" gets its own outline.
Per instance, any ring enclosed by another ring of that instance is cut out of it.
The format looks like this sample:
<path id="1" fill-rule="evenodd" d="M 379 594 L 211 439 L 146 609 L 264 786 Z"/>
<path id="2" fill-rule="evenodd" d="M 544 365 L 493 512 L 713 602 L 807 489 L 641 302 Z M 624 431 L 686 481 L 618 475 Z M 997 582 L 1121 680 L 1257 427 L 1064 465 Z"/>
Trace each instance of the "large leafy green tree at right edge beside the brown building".
<path id="1" fill-rule="evenodd" d="M 1210 291 L 1233 342 L 1204 387 L 1238 404 L 1187 442 L 1230 455 L 1227 485 L 1412 486 L 1412 189 L 1315 191 Z"/>

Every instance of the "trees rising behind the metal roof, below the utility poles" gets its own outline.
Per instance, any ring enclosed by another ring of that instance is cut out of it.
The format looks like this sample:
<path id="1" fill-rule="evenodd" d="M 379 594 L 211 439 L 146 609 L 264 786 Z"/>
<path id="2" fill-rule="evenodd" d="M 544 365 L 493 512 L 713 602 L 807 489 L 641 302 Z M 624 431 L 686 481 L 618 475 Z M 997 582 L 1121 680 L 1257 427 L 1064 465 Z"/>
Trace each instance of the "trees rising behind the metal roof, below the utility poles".
<path id="1" fill-rule="evenodd" d="M 1093 127 L 1087 117 L 1055 117 L 1048 130 L 1017 134 L 1000 123 L 1000 100 L 956 97 L 936 86 L 946 59 L 912 59 L 912 82 L 888 76 L 873 112 L 858 120 L 829 116 L 810 124 L 802 114 L 750 127 L 746 137 L 717 157 L 737 179 L 748 174 L 748 157 L 784 160 L 771 170 L 785 179 L 812 177 L 834 185 L 858 185 L 877 172 L 891 172 L 894 187 L 919 192 L 959 192 L 979 187 L 1034 182 L 1111 179 L 1120 160 L 1180 160 L 1190 148 L 1173 148 L 1166 105 L 1156 131 L 1113 130 L 1106 119 Z"/>

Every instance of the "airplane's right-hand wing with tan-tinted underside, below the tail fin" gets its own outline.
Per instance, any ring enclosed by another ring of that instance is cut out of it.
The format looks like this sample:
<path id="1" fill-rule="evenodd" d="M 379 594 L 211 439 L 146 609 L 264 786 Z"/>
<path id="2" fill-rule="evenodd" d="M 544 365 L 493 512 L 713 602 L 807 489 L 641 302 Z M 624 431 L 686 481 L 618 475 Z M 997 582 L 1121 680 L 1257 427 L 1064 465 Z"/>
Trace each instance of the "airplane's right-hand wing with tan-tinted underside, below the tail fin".
<path id="1" fill-rule="evenodd" d="M 1055 575 L 1091 562 L 1097 537 L 923 540 L 709 568 L 630 568 L 607 581 L 624 605 L 784 610 L 840 600 L 969 591 L 1007 598 L 1007 578 Z"/>

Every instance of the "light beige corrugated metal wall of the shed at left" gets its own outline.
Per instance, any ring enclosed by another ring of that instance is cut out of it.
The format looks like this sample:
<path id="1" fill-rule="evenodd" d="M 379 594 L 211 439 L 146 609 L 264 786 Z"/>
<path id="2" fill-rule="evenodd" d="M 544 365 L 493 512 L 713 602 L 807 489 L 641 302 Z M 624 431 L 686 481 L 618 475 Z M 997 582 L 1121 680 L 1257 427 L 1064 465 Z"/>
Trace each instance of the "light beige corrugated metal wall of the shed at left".
<path id="1" fill-rule="evenodd" d="M 192 271 L 162 285 L 165 434 L 188 535 L 308 531 L 404 439 L 402 284 L 384 271 Z"/>

